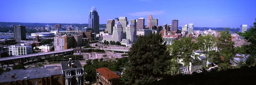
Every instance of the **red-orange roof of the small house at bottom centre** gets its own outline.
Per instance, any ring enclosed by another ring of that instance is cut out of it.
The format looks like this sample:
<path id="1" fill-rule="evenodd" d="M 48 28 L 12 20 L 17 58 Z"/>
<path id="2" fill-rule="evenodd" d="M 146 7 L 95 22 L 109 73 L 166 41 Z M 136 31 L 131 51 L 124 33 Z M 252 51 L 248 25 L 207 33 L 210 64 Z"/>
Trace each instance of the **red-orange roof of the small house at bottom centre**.
<path id="1" fill-rule="evenodd" d="M 113 71 L 109 70 L 106 67 L 98 68 L 98 69 L 96 69 L 96 71 L 98 71 L 100 74 L 102 74 L 108 80 L 120 78 L 119 75 L 115 74 Z"/>

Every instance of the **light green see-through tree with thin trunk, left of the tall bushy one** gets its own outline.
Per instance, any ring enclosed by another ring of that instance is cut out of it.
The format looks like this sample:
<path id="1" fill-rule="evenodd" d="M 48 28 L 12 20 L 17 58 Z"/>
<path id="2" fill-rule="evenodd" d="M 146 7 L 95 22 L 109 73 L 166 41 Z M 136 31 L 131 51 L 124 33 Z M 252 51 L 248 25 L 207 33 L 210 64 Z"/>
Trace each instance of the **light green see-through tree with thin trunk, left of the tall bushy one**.
<path id="1" fill-rule="evenodd" d="M 215 51 L 214 48 L 215 48 L 216 39 L 214 38 L 214 36 L 213 35 L 199 36 L 196 38 L 196 40 L 197 40 L 196 45 L 198 46 L 198 49 L 202 51 L 202 53 L 204 54 L 205 61 L 212 62 L 212 56 L 209 55 L 209 52 Z M 207 66 L 207 63 L 205 63 L 205 66 Z"/>

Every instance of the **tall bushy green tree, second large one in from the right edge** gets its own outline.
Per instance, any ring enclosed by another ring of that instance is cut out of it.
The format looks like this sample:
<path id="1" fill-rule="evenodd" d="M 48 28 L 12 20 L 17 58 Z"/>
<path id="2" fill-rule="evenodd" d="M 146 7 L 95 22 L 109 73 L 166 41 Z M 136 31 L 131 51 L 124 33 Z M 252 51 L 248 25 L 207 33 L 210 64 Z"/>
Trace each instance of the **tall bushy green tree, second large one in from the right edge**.
<path id="1" fill-rule="evenodd" d="M 219 37 L 217 38 L 217 47 L 218 47 L 218 52 L 219 55 L 223 57 L 222 61 L 224 63 L 228 63 L 229 60 L 232 60 L 232 65 L 233 64 L 233 57 L 236 54 L 234 50 L 234 41 L 231 40 L 232 36 L 228 31 L 228 28 L 226 28 L 225 31 L 220 31 L 219 32 Z"/>

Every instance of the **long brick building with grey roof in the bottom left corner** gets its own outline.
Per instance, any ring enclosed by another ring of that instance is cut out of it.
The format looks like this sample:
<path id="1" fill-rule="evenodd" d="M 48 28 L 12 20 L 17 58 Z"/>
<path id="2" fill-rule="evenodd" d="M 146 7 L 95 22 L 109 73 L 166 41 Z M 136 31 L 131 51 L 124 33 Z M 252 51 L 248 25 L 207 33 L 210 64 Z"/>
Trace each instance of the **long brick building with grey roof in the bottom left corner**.
<path id="1" fill-rule="evenodd" d="M 61 67 L 17 69 L 3 72 L 0 85 L 63 85 Z"/>

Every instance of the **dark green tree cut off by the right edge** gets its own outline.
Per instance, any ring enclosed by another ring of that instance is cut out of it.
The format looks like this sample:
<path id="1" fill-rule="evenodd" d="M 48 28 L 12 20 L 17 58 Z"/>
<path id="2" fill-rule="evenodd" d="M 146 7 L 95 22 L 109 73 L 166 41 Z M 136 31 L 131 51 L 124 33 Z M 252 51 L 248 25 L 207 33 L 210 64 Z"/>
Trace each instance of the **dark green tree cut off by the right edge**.
<path id="1" fill-rule="evenodd" d="M 250 54 L 245 61 L 247 66 L 255 66 L 256 64 L 256 18 L 253 25 L 249 31 L 238 33 L 248 42 L 248 44 L 242 46 L 245 54 Z"/>

